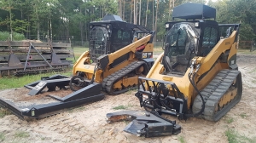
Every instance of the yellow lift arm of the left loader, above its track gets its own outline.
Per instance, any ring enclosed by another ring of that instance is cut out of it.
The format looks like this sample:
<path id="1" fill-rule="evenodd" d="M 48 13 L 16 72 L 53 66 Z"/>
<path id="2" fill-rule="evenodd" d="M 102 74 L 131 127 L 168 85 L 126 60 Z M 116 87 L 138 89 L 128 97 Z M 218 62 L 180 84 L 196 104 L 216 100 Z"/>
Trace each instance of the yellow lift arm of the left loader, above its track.
<path id="1" fill-rule="evenodd" d="M 146 46 L 147 43 L 152 43 L 153 38 L 154 38 L 154 32 L 152 34 L 149 34 L 148 36 L 145 36 L 137 40 L 134 43 L 131 43 L 130 45 L 125 46 L 125 48 L 123 49 L 117 50 L 112 54 L 102 55 L 97 60 L 99 60 L 99 63 L 102 69 L 105 70 L 107 66 L 113 63 L 113 60 L 116 60 L 120 56 L 127 54 L 129 52 L 136 53 L 138 47 L 142 45 Z"/>

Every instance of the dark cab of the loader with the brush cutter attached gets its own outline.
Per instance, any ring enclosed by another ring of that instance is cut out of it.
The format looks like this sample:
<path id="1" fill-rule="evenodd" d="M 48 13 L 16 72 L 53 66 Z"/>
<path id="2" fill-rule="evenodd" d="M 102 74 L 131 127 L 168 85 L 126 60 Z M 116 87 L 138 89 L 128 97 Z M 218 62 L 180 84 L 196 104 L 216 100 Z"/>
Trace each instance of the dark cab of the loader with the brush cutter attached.
<path id="1" fill-rule="evenodd" d="M 133 24 L 118 15 L 107 14 L 101 21 L 90 22 L 90 59 L 110 54 L 132 43 Z"/>

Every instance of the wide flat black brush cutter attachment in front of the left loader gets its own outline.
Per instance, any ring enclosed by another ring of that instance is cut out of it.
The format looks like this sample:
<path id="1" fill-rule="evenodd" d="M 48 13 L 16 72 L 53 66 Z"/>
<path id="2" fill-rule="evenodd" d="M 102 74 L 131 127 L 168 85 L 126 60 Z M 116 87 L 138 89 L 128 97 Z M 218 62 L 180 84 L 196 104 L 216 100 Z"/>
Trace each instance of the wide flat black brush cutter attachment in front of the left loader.
<path id="1" fill-rule="evenodd" d="M 65 86 L 68 86 L 69 82 L 70 78 L 61 75 L 42 77 L 42 80 L 25 86 L 27 89 L 31 89 L 28 94 L 19 94 L 19 96 L 1 94 L 0 106 L 8 108 L 16 116 L 27 120 L 49 117 L 66 111 L 68 108 L 104 99 L 105 95 L 101 93 L 102 85 L 99 83 L 91 83 L 75 92 L 69 90 L 71 94 L 64 96 L 63 94 L 48 94 L 49 91 L 55 91 L 56 87 L 66 89 Z M 42 93 L 46 87 L 48 91 Z M 68 93 L 67 90 L 62 91 L 64 94 Z"/>

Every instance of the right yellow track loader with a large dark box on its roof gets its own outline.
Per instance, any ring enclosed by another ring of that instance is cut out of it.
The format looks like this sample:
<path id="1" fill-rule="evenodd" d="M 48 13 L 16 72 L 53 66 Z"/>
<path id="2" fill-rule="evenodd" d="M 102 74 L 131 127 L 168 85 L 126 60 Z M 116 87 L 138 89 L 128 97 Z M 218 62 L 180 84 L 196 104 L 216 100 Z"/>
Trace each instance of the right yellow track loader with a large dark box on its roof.
<path id="1" fill-rule="evenodd" d="M 241 100 L 240 25 L 218 24 L 216 9 L 199 3 L 175 7 L 177 18 L 166 22 L 164 52 L 138 78 L 136 96 L 148 112 L 218 121 Z"/>

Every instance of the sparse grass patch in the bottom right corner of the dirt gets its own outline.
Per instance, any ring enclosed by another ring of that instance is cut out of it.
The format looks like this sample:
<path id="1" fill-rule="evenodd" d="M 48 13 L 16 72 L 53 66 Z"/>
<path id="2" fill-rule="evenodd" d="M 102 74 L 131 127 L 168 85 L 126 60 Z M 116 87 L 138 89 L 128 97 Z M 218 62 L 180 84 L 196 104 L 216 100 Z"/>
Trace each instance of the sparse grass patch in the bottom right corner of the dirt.
<path id="1" fill-rule="evenodd" d="M 226 130 L 225 135 L 228 137 L 229 143 L 240 143 L 240 142 L 255 143 L 256 142 L 256 137 L 249 138 L 245 135 L 238 134 L 233 129 Z"/>

